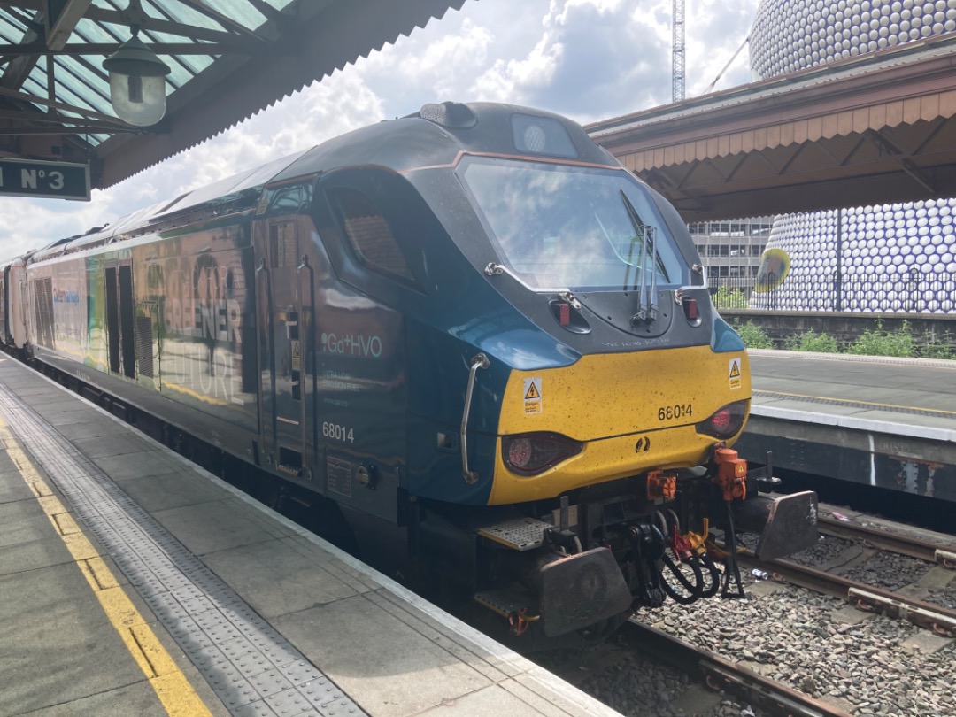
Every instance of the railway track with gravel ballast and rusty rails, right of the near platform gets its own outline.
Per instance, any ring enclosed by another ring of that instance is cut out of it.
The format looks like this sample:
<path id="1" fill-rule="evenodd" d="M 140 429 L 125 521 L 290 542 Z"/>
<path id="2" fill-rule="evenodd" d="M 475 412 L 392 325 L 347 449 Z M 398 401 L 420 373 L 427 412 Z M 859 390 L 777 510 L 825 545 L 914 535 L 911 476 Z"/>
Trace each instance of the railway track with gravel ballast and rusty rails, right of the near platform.
<path id="1" fill-rule="evenodd" d="M 858 520 L 871 519 L 860 516 Z M 833 570 L 855 576 L 879 574 L 881 568 L 872 568 L 870 561 L 882 565 L 887 558 L 884 552 L 889 552 L 905 556 L 892 557 L 893 561 L 915 566 L 902 570 L 904 579 L 926 575 L 916 566 L 917 561 L 925 561 L 925 570 L 933 571 L 930 582 L 945 582 L 945 568 L 953 565 L 952 544 L 873 523 L 859 525 L 836 518 L 820 522 L 821 534 L 828 536 L 822 553 L 831 553 L 822 562 Z M 819 559 L 810 553 L 802 557 Z M 870 567 L 864 571 L 861 566 Z M 754 569 L 757 576 L 751 575 Z M 914 717 L 956 713 L 956 700 L 949 695 L 945 677 L 949 672 L 946 665 L 956 655 L 951 646 L 951 638 L 956 637 L 956 610 L 906 595 L 906 588 L 903 592 L 888 590 L 868 580 L 834 575 L 793 560 L 761 562 L 742 554 L 741 570 L 749 600 L 671 605 L 663 614 L 641 611 L 639 619 L 632 619 L 622 629 L 621 640 L 602 663 L 587 667 L 571 663 L 565 671 L 585 675 L 579 686 L 625 714 L 835 717 L 867 714 L 868 708 L 873 714 Z M 775 580 L 761 580 L 761 572 Z M 897 582 L 895 587 L 900 586 L 900 580 Z M 925 593 L 922 578 L 920 584 L 919 590 L 911 585 L 910 592 Z M 855 620 L 850 617 L 853 611 L 842 607 L 848 602 L 877 615 L 867 619 L 860 614 L 860 620 Z M 899 618 L 926 629 L 919 630 Z M 741 619 L 750 619 L 750 627 L 740 628 Z M 917 638 L 918 634 L 923 638 Z M 901 651 L 899 645 L 907 641 L 927 643 L 930 652 L 910 651 L 922 648 Z M 950 647 L 946 648 L 947 644 Z M 900 671 L 894 673 L 893 665 Z M 663 668 L 673 670 L 676 680 L 663 677 L 659 671 Z M 875 678 L 874 674 L 883 676 Z M 675 687 L 679 681 L 684 681 L 684 686 Z M 655 703 L 653 696 L 648 701 L 650 687 L 641 687 L 640 696 L 622 700 L 620 685 L 626 693 L 639 682 L 658 684 L 659 693 L 676 696 Z M 894 684 L 897 686 L 890 686 Z M 898 690 L 912 695 L 910 704 L 889 697 Z M 688 704 L 694 706 L 688 709 Z M 888 705 L 888 711 L 880 711 Z"/>

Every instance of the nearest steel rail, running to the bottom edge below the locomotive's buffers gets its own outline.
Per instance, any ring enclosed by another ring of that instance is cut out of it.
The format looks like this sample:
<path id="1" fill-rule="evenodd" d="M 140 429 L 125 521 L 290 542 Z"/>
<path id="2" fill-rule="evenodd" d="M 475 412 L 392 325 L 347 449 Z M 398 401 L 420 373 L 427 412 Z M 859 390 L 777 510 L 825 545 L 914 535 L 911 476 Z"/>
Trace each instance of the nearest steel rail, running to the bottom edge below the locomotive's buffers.
<path id="1" fill-rule="evenodd" d="M 726 690 L 779 717 L 849 717 L 844 710 L 786 684 L 731 663 L 663 630 L 630 619 L 622 628 L 628 641 L 663 663 L 684 671 L 714 690 Z"/>

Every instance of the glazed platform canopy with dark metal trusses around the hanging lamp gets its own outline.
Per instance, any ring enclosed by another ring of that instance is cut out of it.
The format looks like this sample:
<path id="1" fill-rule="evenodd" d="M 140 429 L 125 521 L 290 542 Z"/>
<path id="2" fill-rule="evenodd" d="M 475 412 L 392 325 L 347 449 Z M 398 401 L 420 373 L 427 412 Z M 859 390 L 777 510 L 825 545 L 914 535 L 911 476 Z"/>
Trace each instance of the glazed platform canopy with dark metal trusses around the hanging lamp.
<path id="1" fill-rule="evenodd" d="M 465 0 L 0 0 L 0 159 L 90 165 L 105 188 L 249 118 Z M 103 59 L 171 68 L 163 120 L 125 124 Z"/>

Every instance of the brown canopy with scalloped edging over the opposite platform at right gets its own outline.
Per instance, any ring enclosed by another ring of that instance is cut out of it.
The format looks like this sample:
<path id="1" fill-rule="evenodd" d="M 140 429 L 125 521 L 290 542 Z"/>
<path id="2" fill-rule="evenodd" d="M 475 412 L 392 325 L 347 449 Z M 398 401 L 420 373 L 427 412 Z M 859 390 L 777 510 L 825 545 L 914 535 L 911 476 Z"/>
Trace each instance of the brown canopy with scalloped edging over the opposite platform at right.
<path id="1" fill-rule="evenodd" d="M 956 33 L 585 128 L 684 221 L 956 194 Z"/>

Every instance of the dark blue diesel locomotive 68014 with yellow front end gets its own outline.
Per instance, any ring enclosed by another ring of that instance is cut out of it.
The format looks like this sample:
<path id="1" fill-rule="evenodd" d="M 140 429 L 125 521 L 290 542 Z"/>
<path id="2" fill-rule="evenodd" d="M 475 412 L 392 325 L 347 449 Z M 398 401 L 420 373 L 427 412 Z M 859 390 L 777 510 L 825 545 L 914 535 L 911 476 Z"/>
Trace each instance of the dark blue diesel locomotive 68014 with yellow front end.
<path id="1" fill-rule="evenodd" d="M 737 530 L 815 540 L 730 448 L 748 358 L 699 261 L 574 122 L 446 102 L 6 264 L 0 337 L 553 645 L 739 594 Z"/>

